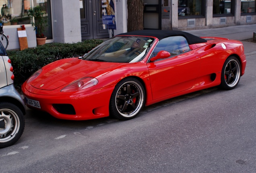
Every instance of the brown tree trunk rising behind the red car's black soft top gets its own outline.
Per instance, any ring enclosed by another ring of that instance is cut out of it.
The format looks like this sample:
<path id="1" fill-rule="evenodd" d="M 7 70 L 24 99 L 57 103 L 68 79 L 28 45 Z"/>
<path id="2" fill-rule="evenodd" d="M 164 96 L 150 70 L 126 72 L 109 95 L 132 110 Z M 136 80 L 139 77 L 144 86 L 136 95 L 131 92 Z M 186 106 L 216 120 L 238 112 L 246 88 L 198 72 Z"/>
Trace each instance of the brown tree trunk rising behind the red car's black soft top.
<path id="1" fill-rule="evenodd" d="M 128 32 L 142 30 L 143 27 L 143 0 L 127 0 Z"/>

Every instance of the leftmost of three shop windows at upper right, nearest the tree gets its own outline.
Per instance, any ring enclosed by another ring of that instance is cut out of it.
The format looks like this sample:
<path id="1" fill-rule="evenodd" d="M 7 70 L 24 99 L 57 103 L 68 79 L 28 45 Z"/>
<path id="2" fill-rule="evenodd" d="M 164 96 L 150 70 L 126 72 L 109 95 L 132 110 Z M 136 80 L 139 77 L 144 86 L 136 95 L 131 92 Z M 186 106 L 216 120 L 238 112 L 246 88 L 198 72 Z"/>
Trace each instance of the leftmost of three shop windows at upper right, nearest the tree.
<path id="1" fill-rule="evenodd" d="M 178 16 L 203 15 L 203 0 L 178 0 Z"/>

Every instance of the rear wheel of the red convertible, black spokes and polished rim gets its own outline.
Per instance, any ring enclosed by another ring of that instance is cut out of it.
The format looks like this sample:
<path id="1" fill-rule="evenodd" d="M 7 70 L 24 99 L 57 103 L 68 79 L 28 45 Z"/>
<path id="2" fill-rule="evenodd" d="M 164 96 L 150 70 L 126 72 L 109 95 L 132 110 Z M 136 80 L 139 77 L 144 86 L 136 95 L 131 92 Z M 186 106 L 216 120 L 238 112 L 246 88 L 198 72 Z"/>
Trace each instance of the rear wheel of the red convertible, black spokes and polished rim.
<path id="1" fill-rule="evenodd" d="M 230 56 L 225 60 L 221 71 L 221 84 L 222 89 L 234 89 L 241 77 L 241 65 L 235 56 Z"/>

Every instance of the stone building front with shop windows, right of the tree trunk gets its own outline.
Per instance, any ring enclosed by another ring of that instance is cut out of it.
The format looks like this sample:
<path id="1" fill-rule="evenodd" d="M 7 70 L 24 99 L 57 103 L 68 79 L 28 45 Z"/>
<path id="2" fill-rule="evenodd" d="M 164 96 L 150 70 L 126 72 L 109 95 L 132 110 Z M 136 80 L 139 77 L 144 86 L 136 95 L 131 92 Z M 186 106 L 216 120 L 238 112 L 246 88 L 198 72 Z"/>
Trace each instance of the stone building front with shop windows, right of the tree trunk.
<path id="1" fill-rule="evenodd" d="M 144 3 L 145 28 L 194 30 L 256 24 L 255 0 L 144 0 Z"/>

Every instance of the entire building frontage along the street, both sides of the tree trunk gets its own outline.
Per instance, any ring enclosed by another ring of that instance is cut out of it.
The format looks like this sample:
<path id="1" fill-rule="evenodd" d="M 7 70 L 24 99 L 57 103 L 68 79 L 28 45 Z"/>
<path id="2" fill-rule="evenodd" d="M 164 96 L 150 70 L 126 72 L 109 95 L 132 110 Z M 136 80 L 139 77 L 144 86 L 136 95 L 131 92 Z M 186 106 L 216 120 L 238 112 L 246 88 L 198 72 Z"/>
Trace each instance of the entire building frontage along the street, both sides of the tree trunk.
<path id="1" fill-rule="evenodd" d="M 114 35 L 127 32 L 127 0 L 116 4 Z M 41 6 L 48 20 L 48 43 L 73 43 L 108 38 L 103 29 L 102 0 L 0 0 L 1 21 L 9 37 L 7 49 L 18 49 L 17 28 L 25 25 L 29 47 L 36 46 L 36 32 L 28 10 Z M 194 30 L 256 24 L 256 0 L 144 0 L 144 28 Z M 136 19 L 134 19 L 136 20 Z"/>

